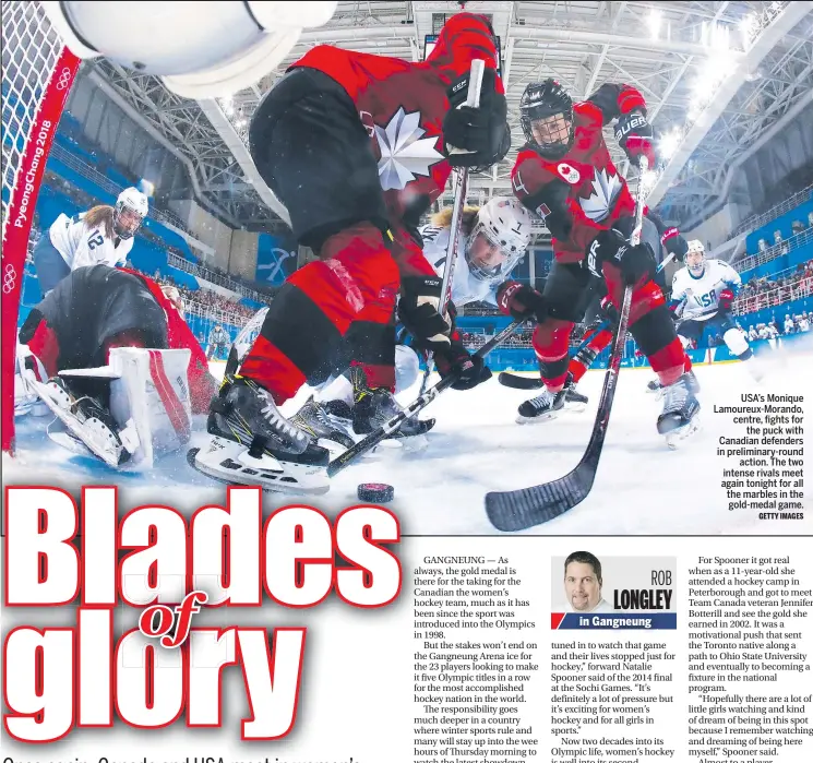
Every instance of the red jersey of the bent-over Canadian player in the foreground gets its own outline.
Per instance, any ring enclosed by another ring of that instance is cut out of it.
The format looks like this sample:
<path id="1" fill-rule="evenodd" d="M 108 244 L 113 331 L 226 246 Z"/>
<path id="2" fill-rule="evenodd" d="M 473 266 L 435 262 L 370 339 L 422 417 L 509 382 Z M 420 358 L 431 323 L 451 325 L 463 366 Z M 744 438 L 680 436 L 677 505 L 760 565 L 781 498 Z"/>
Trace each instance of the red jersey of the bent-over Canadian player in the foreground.
<path id="1" fill-rule="evenodd" d="M 421 215 L 443 193 L 452 167 L 443 155 L 446 88 L 481 59 L 497 68 L 497 46 L 485 16 L 457 13 L 443 26 L 426 61 L 360 53 L 327 45 L 307 52 L 295 67 L 318 69 L 352 98 L 370 135 L 379 179 L 407 271 L 434 275 L 415 239 Z M 502 83 L 497 80 L 502 93 Z"/>

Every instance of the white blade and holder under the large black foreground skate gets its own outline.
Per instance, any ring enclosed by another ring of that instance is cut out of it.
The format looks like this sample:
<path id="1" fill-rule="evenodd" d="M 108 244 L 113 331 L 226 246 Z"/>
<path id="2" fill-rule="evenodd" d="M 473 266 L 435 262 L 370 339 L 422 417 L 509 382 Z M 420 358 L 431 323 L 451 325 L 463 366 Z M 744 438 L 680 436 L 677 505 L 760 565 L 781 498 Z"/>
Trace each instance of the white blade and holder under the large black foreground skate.
<path id="1" fill-rule="evenodd" d="M 248 485 L 298 496 L 322 496 L 331 489 L 325 466 L 282 463 L 267 454 L 253 458 L 244 445 L 219 437 L 213 437 L 206 448 L 189 451 L 187 462 L 201 474 L 226 485 Z"/>

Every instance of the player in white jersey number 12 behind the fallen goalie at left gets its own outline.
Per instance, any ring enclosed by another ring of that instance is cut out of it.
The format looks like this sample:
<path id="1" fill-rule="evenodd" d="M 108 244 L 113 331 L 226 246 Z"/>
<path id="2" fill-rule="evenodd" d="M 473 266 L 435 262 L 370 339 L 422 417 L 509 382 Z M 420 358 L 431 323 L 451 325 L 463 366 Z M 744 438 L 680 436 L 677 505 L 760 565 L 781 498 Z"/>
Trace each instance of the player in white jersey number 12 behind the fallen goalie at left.
<path id="1" fill-rule="evenodd" d="M 127 188 L 116 206 L 99 204 L 75 217 L 57 217 L 34 248 L 34 267 L 43 296 L 79 267 L 123 265 L 148 208 L 141 191 Z"/>

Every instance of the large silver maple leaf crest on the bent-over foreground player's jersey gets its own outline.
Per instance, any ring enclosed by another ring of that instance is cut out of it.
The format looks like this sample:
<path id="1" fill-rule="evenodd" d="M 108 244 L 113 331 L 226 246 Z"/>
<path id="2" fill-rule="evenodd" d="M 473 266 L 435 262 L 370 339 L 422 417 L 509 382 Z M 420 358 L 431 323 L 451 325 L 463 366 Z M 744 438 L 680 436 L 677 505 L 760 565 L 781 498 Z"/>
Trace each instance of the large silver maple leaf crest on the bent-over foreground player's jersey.
<path id="1" fill-rule="evenodd" d="M 429 177 L 432 165 L 443 160 L 434 144 L 438 136 L 421 138 L 420 111 L 407 114 L 399 107 L 386 128 L 373 124 L 381 150 L 379 178 L 385 191 L 403 190 L 416 176 Z"/>

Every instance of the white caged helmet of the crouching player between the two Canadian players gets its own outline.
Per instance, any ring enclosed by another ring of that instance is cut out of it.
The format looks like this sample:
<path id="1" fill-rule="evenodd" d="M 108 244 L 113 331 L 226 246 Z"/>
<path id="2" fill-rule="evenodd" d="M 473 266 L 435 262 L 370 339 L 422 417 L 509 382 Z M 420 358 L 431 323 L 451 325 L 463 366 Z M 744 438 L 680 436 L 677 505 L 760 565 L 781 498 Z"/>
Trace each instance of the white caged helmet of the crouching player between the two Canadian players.
<path id="1" fill-rule="evenodd" d="M 490 199 L 477 213 L 466 247 L 471 274 L 480 281 L 505 281 L 525 255 L 531 226 L 530 213 L 514 196 Z"/>

